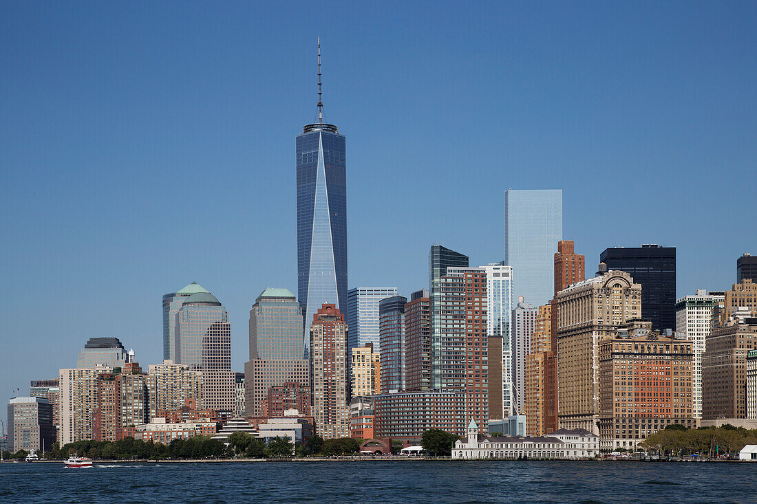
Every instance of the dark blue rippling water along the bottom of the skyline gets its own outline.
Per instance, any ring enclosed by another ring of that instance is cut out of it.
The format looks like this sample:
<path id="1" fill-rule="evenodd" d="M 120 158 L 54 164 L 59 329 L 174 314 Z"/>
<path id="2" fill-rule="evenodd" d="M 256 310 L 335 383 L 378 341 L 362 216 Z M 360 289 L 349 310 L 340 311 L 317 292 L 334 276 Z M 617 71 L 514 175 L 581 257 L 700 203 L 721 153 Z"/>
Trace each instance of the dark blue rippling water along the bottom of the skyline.
<path id="1" fill-rule="evenodd" d="M 0 465 L 0 502 L 755 502 L 757 464 L 565 461 Z"/>

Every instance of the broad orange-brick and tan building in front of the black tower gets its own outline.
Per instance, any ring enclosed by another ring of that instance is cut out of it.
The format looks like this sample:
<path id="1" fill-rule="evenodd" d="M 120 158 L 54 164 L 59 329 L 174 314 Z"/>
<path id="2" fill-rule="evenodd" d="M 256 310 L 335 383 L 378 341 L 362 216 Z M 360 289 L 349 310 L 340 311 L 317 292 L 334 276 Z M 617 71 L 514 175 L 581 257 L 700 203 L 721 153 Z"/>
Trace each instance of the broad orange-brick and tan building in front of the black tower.
<path id="1" fill-rule="evenodd" d="M 691 341 L 647 328 L 601 341 L 600 446 L 628 449 L 668 425 L 696 427 L 692 366 Z"/>

